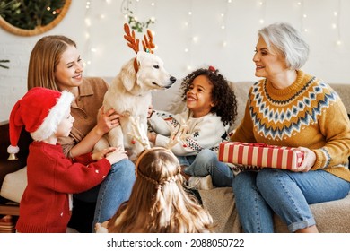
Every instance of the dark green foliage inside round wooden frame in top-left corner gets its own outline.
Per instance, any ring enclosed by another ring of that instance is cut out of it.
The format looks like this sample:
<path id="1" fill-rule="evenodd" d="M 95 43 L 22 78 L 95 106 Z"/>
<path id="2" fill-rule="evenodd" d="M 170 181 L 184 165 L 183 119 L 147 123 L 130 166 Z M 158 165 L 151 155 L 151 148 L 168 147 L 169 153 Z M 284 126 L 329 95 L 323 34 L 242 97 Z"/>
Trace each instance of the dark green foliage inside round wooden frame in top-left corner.
<path id="1" fill-rule="evenodd" d="M 0 15 L 6 22 L 25 30 L 34 30 L 52 22 L 66 0 L 0 0 Z"/>

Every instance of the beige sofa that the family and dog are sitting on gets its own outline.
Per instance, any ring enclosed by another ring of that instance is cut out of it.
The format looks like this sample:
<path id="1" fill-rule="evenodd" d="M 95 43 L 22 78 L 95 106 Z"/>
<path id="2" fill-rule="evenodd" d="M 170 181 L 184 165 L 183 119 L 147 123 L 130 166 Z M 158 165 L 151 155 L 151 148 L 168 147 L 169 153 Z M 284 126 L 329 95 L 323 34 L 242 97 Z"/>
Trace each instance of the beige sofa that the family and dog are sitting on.
<path id="1" fill-rule="evenodd" d="M 105 78 L 110 82 L 110 78 Z M 253 82 L 231 82 L 232 90 L 235 91 L 238 101 L 238 117 L 232 128 L 237 126 L 243 117 L 245 102 L 248 97 L 249 87 Z M 331 84 L 343 100 L 346 110 L 350 113 L 350 84 Z M 179 103 L 176 92 L 179 91 L 179 82 L 168 91 L 153 92 L 153 106 L 156 109 L 163 109 L 177 113 L 184 108 Z M 19 160 L 7 160 L 7 146 L 9 145 L 8 122 L 0 123 L 0 215 L 19 215 L 19 202 L 22 190 L 26 185 L 25 165 L 28 154 L 28 145 L 31 143 L 29 134 L 22 130 L 18 154 Z M 232 187 L 214 187 L 210 190 L 198 190 L 197 195 L 203 206 L 212 214 L 216 232 L 241 232 L 241 224 L 235 210 L 234 195 Z M 338 201 L 328 203 L 312 204 L 311 210 L 314 213 L 320 232 L 350 232 L 350 195 Z M 276 232 L 288 232 L 286 225 L 275 216 Z"/>

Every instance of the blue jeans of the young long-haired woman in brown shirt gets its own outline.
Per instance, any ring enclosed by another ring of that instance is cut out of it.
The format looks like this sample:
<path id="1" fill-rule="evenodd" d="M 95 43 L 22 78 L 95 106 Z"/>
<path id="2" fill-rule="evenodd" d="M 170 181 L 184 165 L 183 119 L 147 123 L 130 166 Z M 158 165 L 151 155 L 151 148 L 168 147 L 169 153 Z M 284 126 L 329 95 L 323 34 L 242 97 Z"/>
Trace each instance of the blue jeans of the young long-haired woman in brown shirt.
<path id="1" fill-rule="evenodd" d="M 99 186 L 74 195 L 83 202 L 96 202 L 92 232 L 97 222 L 109 220 L 121 203 L 129 199 L 135 182 L 135 165 L 130 160 L 120 160 L 112 165 L 108 176 Z"/>

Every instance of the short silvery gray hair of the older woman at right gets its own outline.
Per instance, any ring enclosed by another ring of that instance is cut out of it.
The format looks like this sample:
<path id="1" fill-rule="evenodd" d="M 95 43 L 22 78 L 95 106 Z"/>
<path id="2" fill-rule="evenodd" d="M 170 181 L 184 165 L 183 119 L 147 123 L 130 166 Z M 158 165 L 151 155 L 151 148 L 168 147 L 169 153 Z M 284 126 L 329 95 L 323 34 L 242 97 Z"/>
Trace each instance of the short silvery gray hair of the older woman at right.
<path id="1" fill-rule="evenodd" d="M 286 22 L 276 22 L 258 30 L 258 36 L 265 40 L 267 48 L 284 56 L 286 66 L 298 70 L 309 57 L 309 45 L 302 34 Z"/>

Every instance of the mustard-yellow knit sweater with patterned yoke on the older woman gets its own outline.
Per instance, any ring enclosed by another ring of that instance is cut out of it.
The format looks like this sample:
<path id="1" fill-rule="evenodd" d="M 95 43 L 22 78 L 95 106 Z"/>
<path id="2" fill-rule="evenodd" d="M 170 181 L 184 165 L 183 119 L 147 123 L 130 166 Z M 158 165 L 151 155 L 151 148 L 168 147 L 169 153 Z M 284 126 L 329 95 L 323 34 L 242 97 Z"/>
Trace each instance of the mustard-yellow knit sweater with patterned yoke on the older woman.
<path id="1" fill-rule="evenodd" d="M 266 79 L 256 82 L 231 141 L 307 147 L 316 153 L 311 170 L 324 169 L 350 181 L 346 108 L 327 83 L 302 71 L 283 90 Z"/>

